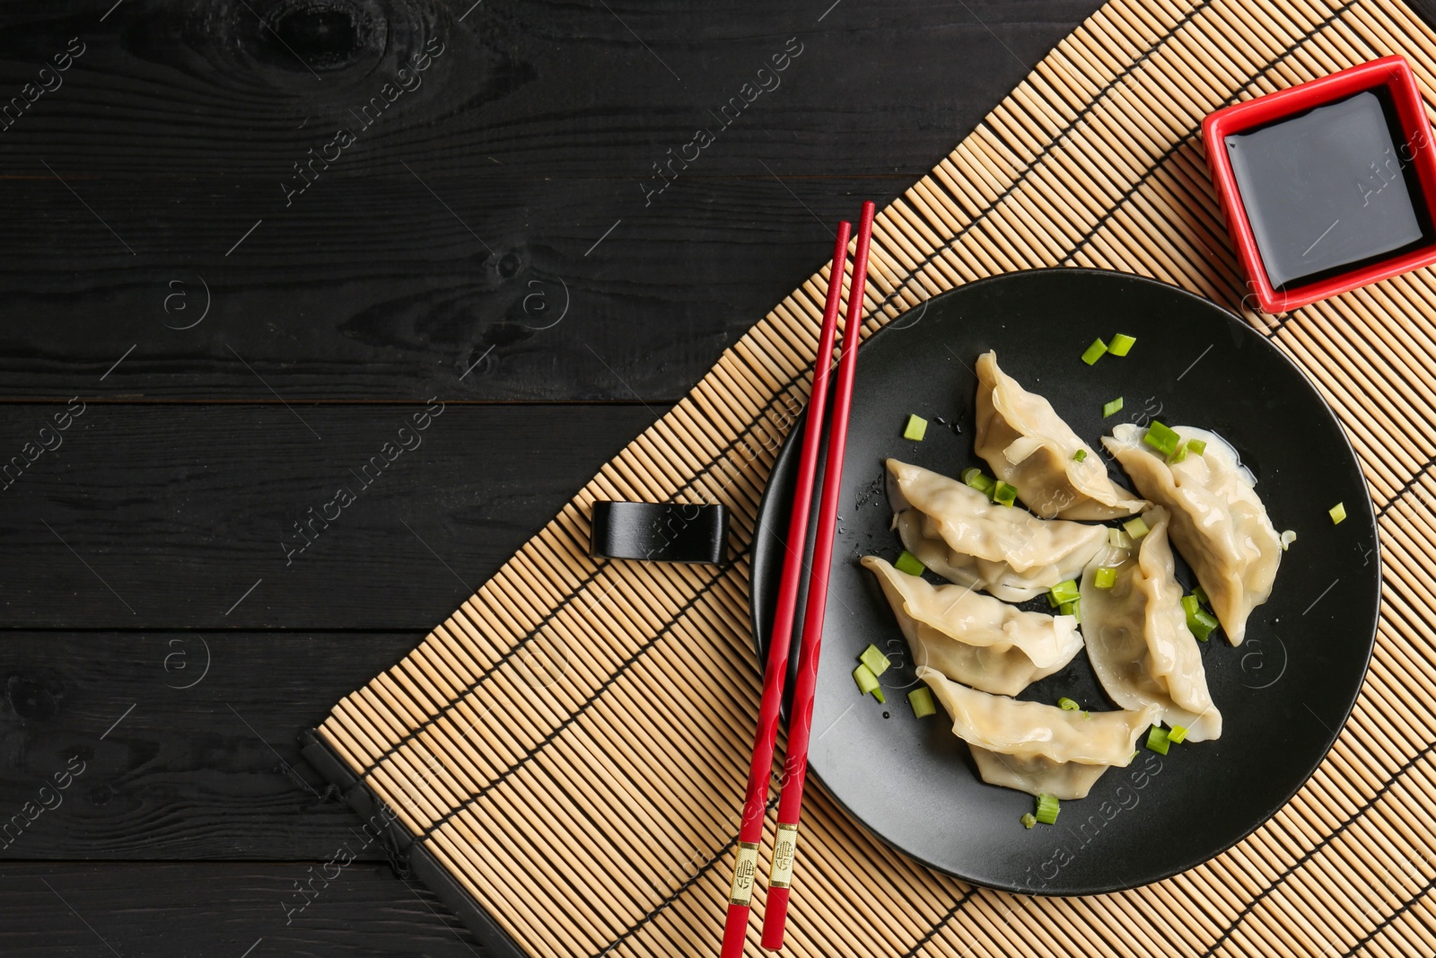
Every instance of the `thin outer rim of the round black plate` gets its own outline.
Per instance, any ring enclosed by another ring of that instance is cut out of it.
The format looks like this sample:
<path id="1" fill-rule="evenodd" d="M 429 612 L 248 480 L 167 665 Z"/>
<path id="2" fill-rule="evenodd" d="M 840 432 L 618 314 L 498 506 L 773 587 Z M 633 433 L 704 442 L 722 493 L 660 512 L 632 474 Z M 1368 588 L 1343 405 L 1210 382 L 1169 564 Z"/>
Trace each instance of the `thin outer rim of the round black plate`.
<path id="1" fill-rule="evenodd" d="M 1356 710 L 1357 701 L 1361 698 L 1361 689 L 1366 687 L 1366 678 L 1367 678 L 1367 675 L 1371 671 L 1371 656 L 1373 656 L 1373 654 L 1376 651 L 1376 636 L 1380 632 L 1380 625 L 1381 625 L 1381 600 L 1383 600 L 1383 595 L 1384 595 L 1384 589 L 1386 589 L 1386 576 L 1383 573 L 1383 567 L 1384 566 L 1383 566 L 1383 559 L 1381 559 L 1383 549 L 1381 549 L 1381 540 L 1380 540 L 1380 527 L 1377 526 L 1379 516 L 1377 516 L 1377 510 L 1376 510 L 1376 501 L 1371 498 L 1371 485 L 1370 485 L 1370 481 L 1366 480 L 1366 471 L 1361 468 L 1361 460 L 1357 455 L 1356 448 L 1351 445 L 1351 437 L 1347 435 L 1346 425 L 1343 425 L 1340 417 L 1337 417 L 1337 414 L 1335 414 L 1335 409 L 1331 408 L 1331 404 L 1328 404 L 1325 401 L 1325 398 L 1321 395 L 1321 391 L 1311 381 L 1311 376 L 1307 375 L 1307 371 L 1297 365 L 1295 359 L 1292 359 L 1285 352 L 1282 352 L 1279 348 L 1277 348 L 1275 343 L 1271 342 L 1271 338 L 1262 336 L 1259 330 L 1256 330 L 1251 323 L 1248 323 L 1239 315 L 1236 315 L 1235 312 L 1232 312 L 1226 306 L 1222 306 L 1221 303 L 1202 296 L 1200 293 L 1195 293 L 1195 292 L 1192 292 L 1189 289 L 1176 286 L 1173 283 L 1167 283 L 1165 280 L 1153 279 L 1150 276 L 1142 276 L 1139 273 L 1123 273 L 1120 270 L 1100 270 L 1100 269 L 1091 269 L 1091 267 L 1061 267 L 1061 266 L 1041 267 L 1041 269 L 1032 269 L 1032 270 L 1014 270 L 1014 271 L 1010 271 L 1010 273 L 997 273 L 994 276 L 985 276 L 985 277 L 982 277 L 979 280 L 974 280 L 971 283 L 964 283 L 962 286 L 955 286 L 955 287 L 952 287 L 949 290 L 943 290 L 943 292 L 938 293 L 936 296 L 931 296 L 931 297 L 925 299 L 918 306 L 915 306 L 912 309 L 906 309 L 902 313 L 893 316 L 886 323 L 883 323 L 883 326 L 880 329 L 877 329 L 876 332 L 873 332 L 863 342 L 863 348 L 870 348 L 870 343 L 877 336 L 883 335 L 889 329 L 893 329 L 895 323 L 898 323 L 899 320 L 902 320 L 909 313 L 912 313 L 912 312 L 915 312 L 918 309 L 920 309 L 920 310 L 923 310 L 923 313 L 926 313 L 926 309 L 935 300 L 954 299 L 954 297 L 956 297 L 956 294 L 959 294 L 959 293 L 962 293 L 965 290 L 971 290 L 971 289 L 982 287 L 982 286 L 999 284 L 1004 280 L 1005 282 L 1012 282 L 1015 277 L 1027 277 L 1027 276 L 1032 276 L 1032 274 L 1057 274 L 1057 273 L 1060 273 L 1063 276 L 1081 274 L 1081 276 L 1101 277 L 1103 280 L 1107 280 L 1107 279 L 1120 279 L 1120 280 L 1126 280 L 1126 282 L 1146 283 L 1149 286 L 1156 286 L 1156 287 L 1162 287 L 1165 290 L 1178 293 L 1178 294 L 1180 294 L 1185 299 L 1196 300 L 1198 303 L 1202 303 L 1203 306 L 1208 306 L 1208 307 L 1215 309 L 1219 313 L 1222 313 L 1228 323 L 1235 325 L 1244 333 L 1246 333 L 1246 332 L 1256 333 L 1258 339 L 1261 339 L 1262 343 L 1278 359 L 1281 359 L 1282 362 L 1285 362 L 1298 376 L 1301 376 L 1301 379 L 1307 383 L 1307 388 L 1311 389 L 1313 395 L 1315 395 L 1317 401 L 1321 404 L 1323 412 L 1331 419 L 1333 424 L 1335 424 L 1337 434 L 1341 437 L 1341 442 L 1346 447 L 1346 452 L 1350 457 L 1350 461 L 1356 464 L 1357 473 L 1361 474 L 1361 477 L 1363 477 L 1363 490 L 1364 490 L 1363 503 L 1370 510 L 1371 526 L 1373 526 L 1373 529 L 1377 533 L 1376 536 L 1373 536 L 1373 544 L 1374 544 L 1373 552 L 1376 554 L 1376 563 L 1374 563 L 1374 575 L 1376 575 L 1376 596 L 1374 596 L 1374 599 L 1376 600 L 1374 600 L 1374 609 L 1373 609 L 1373 616 L 1371 616 L 1370 636 L 1366 638 L 1366 651 L 1364 651 L 1364 655 L 1363 655 L 1363 659 L 1361 659 L 1360 681 L 1356 682 L 1356 687 L 1354 687 L 1354 689 L 1351 692 L 1350 701 L 1347 701 L 1346 705 L 1343 707 L 1341 721 L 1335 725 L 1335 731 L 1331 733 L 1330 738 L 1325 743 L 1325 747 L 1321 750 L 1321 754 L 1317 757 L 1315 763 L 1313 763 L 1313 766 L 1302 774 L 1301 780 L 1297 781 L 1297 784 L 1292 786 L 1292 789 L 1279 801 L 1277 801 L 1271 809 L 1268 809 L 1267 811 L 1264 811 L 1251 824 L 1251 827 L 1248 827 L 1245 832 L 1242 832 L 1241 834 L 1238 834 L 1236 837 L 1234 837 L 1231 842 L 1228 842 L 1222 847 L 1219 847 L 1215 852 L 1206 855 L 1205 857 L 1198 857 L 1195 860 L 1179 863 L 1179 865 L 1176 865 L 1175 868 L 1172 868 L 1169 870 L 1163 870 L 1160 873 L 1152 875 L 1150 878 L 1143 876 L 1143 878 L 1140 878 L 1136 882 L 1114 882 L 1114 883 L 1106 883 L 1106 885 L 1093 885 L 1093 886 L 1088 886 L 1088 888 L 1081 888 L 1078 890 L 1060 890 L 1060 889 L 1047 889 L 1047 886 L 1040 888 L 1040 889 L 1034 889 L 1034 888 L 1025 888 L 1025 886 L 1004 885 L 1004 883 L 999 883 L 999 882 L 982 882 L 982 880 L 978 880 L 978 879 L 975 879 L 975 878 L 972 878 L 969 875 L 961 875 L 961 873 L 958 873 L 958 872 L 955 872 L 955 870 L 952 870 L 949 868 L 945 868 L 942 865 L 938 865 L 938 863 L 933 863 L 933 862 L 928 860 L 920 853 L 909 852 L 908 849 L 900 847 L 900 846 L 895 845 L 893 842 L 890 842 L 889 839 L 886 839 L 880 832 L 877 832 L 876 829 L 873 829 L 870 824 L 867 824 L 866 820 L 863 820 L 856 811 L 853 811 L 853 809 L 850 809 L 846 801 L 843 801 L 843 799 L 827 784 L 827 781 L 824 781 L 821 773 L 819 773 L 817 770 L 814 770 L 811 767 L 808 768 L 808 771 L 807 771 L 808 778 L 817 780 L 819 784 L 821 784 L 823 791 L 827 794 L 829 799 L 831 799 L 843 810 L 843 813 L 847 816 L 849 822 L 852 822 L 853 824 L 856 824 L 856 826 L 862 827 L 863 830 L 866 830 L 869 834 L 873 836 L 873 839 L 876 839 L 877 842 L 880 842 L 883 846 L 892 849 L 893 852 L 896 852 L 896 853 L 899 853 L 899 855 L 902 855 L 902 856 L 905 856 L 908 859 L 912 859 L 913 862 L 918 862 L 923 868 L 929 868 L 929 869 L 932 869 L 935 872 L 939 872 L 942 875 L 948 875 L 948 876 L 955 878 L 955 879 L 958 879 L 961 882 L 966 882 L 966 883 L 978 886 L 978 888 L 991 888 L 994 890 L 1008 892 L 1008 893 L 1012 893 L 1012 895 L 1025 895 L 1025 896 L 1030 896 L 1030 898 L 1081 898 L 1081 896 L 1087 896 L 1087 895 L 1110 895 L 1110 893 L 1114 893 L 1114 892 L 1126 892 L 1126 890 L 1132 890 L 1132 889 L 1136 889 L 1136 888 L 1143 888 L 1143 886 L 1147 886 L 1147 885 L 1155 885 L 1156 882 L 1166 880 L 1166 879 L 1169 879 L 1169 878 L 1172 878 L 1175 875 L 1180 875 L 1180 873 L 1188 872 L 1188 870 L 1190 870 L 1193 868 L 1198 868 L 1199 865 L 1211 862 L 1212 859 L 1215 859 L 1215 857 L 1218 857 L 1221 855 L 1225 855 L 1226 852 L 1229 852 L 1231 849 L 1234 849 L 1235 846 L 1238 846 L 1244 840 L 1246 840 L 1254 832 L 1256 832 L 1256 829 L 1259 829 L 1264 824 L 1267 824 L 1268 822 L 1271 822 L 1277 816 L 1278 811 L 1281 811 L 1284 807 L 1287 807 L 1288 804 L 1291 804 L 1291 800 L 1297 796 L 1298 791 L 1301 791 L 1302 787 L 1305 787 L 1305 784 L 1308 781 L 1311 781 L 1313 776 L 1315 776 L 1317 770 L 1321 767 L 1321 764 L 1331 754 L 1331 750 L 1335 747 L 1337 740 L 1341 737 L 1341 733 L 1346 730 L 1347 722 L 1351 720 L 1351 712 Z M 902 329 L 902 327 L 898 327 L 898 329 Z M 807 412 L 808 412 L 808 405 L 804 404 L 803 411 L 797 417 L 797 421 L 793 424 L 793 428 L 788 431 L 787 438 L 783 441 L 783 445 L 778 450 L 778 454 L 774 457 L 774 460 L 773 460 L 773 468 L 768 471 L 768 477 L 767 477 L 767 480 L 763 484 L 763 497 L 758 501 L 758 511 L 755 514 L 755 521 L 754 521 L 754 539 L 755 540 L 760 539 L 760 531 L 764 527 L 764 524 L 770 518 L 774 518 L 780 513 L 780 510 L 783 508 L 783 506 L 785 504 L 785 503 L 780 501 L 781 497 L 778 497 L 775 494 L 777 490 L 774 488 L 773 477 L 794 455 L 794 448 L 797 447 L 797 440 L 798 440 L 798 437 L 801 437 L 801 434 L 804 432 L 804 429 L 807 429 L 807 421 L 808 421 L 807 419 Z M 774 526 L 777 526 L 777 523 L 774 523 Z M 774 533 L 780 539 L 785 539 L 787 529 L 774 529 Z M 804 549 L 804 554 L 806 553 L 807 553 L 807 549 Z M 765 664 L 767 664 L 767 659 L 768 659 L 768 656 L 767 656 L 767 643 L 764 642 L 763 636 L 765 635 L 767 631 L 771 629 L 771 623 L 768 626 L 764 626 L 763 623 L 760 623 L 760 620 L 758 620 L 758 602 L 755 600 L 755 596 L 757 596 L 757 592 L 760 589 L 758 583 L 760 582 L 767 582 L 771 577 L 771 573 L 768 572 L 768 566 L 771 564 L 771 557 L 770 557 L 771 554 L 773 554 L 773 550 L 754 549 L 752 550 L 752 566 L 751 566 L 751 570 L 748 573 L 748 625 L 750 625 L 751 632 L 752 632 L 752 649 L 754 649 L 754 654 L 757 656 L 757 669 L 758 669 L 760 681 L 764 676 Z M 768 606 L 770 606 L 768 610 L 771 610 L 771 602 L 768 603 Z M 784 717 L 784 720 L 788 717 L 787 695 L 784 697 L 783 717 Z"/>

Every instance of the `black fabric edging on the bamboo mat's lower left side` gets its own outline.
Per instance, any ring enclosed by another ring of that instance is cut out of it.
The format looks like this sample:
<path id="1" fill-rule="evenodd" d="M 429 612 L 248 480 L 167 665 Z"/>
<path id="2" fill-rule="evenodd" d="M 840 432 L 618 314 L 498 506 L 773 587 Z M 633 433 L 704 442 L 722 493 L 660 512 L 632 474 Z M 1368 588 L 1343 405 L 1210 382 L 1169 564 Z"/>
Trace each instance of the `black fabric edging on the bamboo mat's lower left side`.
<path id="1" fill-rule="evenodd" d="M 350 771 L 317 730 L 309 728 L 300 733 L 299 748 L 304 760 L 339 789 L 345 804 L 359 817 L 365 822 L 372 822 L 375 817 L 388 820 L 382 839 L 395 875 L 404 878 L 404 872 L 408 870 L 414 879 L 434 892 L 484 945 L 484 958 L 527 958 L 517 942 L 484 911 L 478 899 L 454 880 L 432 852 L 414 840 L 414 836 L 398 823 L 393 810 Z"/>

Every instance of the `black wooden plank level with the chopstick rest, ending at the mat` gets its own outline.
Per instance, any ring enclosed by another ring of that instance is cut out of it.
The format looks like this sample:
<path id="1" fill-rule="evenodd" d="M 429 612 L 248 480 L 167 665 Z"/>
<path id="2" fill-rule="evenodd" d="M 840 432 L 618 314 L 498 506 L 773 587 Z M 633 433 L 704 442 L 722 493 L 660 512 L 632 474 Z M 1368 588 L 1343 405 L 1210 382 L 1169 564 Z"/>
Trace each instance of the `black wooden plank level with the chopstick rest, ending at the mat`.
<path id="1" fill-rule="evenodd" d="M 663 412 L 66 408 L 0 405 L 0 628 L 426 632 Z"/>

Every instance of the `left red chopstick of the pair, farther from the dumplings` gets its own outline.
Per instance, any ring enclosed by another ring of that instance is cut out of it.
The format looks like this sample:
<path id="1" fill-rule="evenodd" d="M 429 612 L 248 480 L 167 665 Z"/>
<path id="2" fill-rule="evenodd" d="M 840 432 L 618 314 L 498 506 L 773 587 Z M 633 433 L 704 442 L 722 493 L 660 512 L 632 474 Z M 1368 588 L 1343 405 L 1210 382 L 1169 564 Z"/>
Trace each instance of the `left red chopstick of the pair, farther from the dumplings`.
<path id="1" fill-rule="evenodd" d="M 833 366 L 837 313 L 843 303 L 843 266 L 847 263 L 847 238 L 852 230 L 853 224 L 846 220 L 837 224 L 837 243 L 833 246 L 833 274 L 827 282 L 827 307 L 823 310 L 823 332 L 819 335 L 817 359 L 813 365 L 813 394 L 803 432 L 803 457 L 798 460 L 798 480 L 793 493 L 793 517 L 788 520 L 785 540 L 787 554 L 783 560 L 778 603 L 773 615 L 768 665 L 763 676 L 763 701 L 758 705 L 758 731 L 752 738 L 748 791 L 742 804 L 742 823 L 738 829 L 738 860 L 734 865 L 732 886 L 728 890 L 728 922 L 722 935 L 722 958 L 738 958 L 748 935 L 748 909 L 758 865 L 758 846 L 763 843 L 763 820 L 768 804 L 768 776 L 773 774 L 773 745 L 778 737 L 783 684 L 788 678 L 793 615 L 798 605 L 798 576 L 803 572 L 803 546 L 807 539 L 808 510 L 813 504 L 817 452 L 823 441 L 827 381 Z"/>

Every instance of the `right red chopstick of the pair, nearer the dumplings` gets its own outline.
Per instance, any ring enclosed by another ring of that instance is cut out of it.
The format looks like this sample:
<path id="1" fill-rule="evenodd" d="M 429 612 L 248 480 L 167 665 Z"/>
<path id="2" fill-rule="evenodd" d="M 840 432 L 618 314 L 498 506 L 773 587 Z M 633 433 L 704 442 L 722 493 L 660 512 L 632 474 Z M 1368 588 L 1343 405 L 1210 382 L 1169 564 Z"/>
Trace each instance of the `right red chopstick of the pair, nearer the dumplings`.
<path id="1" fill-rule="evenodd" d="M 763 947 L 770 949 L 783 948 L 783 928 L 788 916 L 788 885 L 797 853 L 803 781 L 807 778 L 813 689 L 817 685 L 819 655 L 823 651 L 827 579 L 833 567 L 833 533 L 837 526 L 837 497 L 843 487 L 843 451 L 847 445 L 847 415 L 853 408 L 853 375 L 857 372 L 863 290 L 867 284 L 867 246 L 873 236 L 875 211 L 872 203 L 864 203 L 863 217 L 857 221 L 857 251 L 853 256 L 853 280 L 847 294 L 847 326 L 843 329 L 843 356 L 837 363 L 833 422 L 827 437 L 827 468 L 823 473 L 823 500 L 813 539 L 813 570 L 808 573 L 807 610 L 803 615 L 798 676 L 793 688 L 793 714 L 788 718 L 788 754 L 783 768 L 783 796 L 778 799 L 778 837 L 773 852 L 773 873 L 768 876 L 768 903 L 763 913 Z"/>

